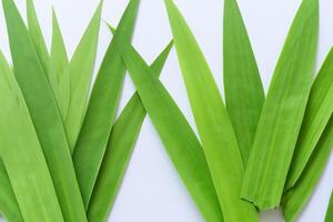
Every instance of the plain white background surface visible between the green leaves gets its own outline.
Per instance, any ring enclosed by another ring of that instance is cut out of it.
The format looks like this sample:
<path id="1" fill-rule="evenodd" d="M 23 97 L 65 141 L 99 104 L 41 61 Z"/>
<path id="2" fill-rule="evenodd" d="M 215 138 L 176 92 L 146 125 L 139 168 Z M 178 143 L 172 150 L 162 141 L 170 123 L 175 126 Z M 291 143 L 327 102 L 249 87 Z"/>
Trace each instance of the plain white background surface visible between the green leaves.
<path id="1" fill-rule="evenodd" d="M 24 12 L 24 0 L 16 0 Z M 286 32 L 301 0 L 239 0 L 256 56 L 265 90 L 268 89 Z M 321 0 L 321 24 L 317 68 L 333 46 L 333 1 Z M 128 0 L 104 0 L 103 19 L 117 26 Z M 222 91 L 222 0 L 175 0 L 193 30 L 214 72 Z M 68 52 L 72 54 L 98 0 L 36 0 L 41 27 L 48 44 L 51 37 L 51 6 L 54 6 L 62 28 Z M 0 7 L 0 48 L 8 59 L 10 52 Z M 102 24 L 97 68 L 100 65 L 111 36 Z M 163 0 L 142 0 L 133 40 L 134 47 L 148 62 L 170 41 L 171 32 Z M 186 100 L 179 64 L 172 51 L 162 74 L 162 81 L 175 99 L 190 123 L 193 117 Z M 127 78 L 121 108 L 133 92 Z M 321 222 L 333 186 L 333 158 L 300 222 Z M 283 221 L 280 212 L 261 214 L 262 221 Z M 1 220 L 1 219 L 0 219 Z M 139 138 L 123 185 L 110 216 L 110 222 L 200 222 L 203 221 L 180 178 L 176 174 L 159 137 L 147 119 Z"/>

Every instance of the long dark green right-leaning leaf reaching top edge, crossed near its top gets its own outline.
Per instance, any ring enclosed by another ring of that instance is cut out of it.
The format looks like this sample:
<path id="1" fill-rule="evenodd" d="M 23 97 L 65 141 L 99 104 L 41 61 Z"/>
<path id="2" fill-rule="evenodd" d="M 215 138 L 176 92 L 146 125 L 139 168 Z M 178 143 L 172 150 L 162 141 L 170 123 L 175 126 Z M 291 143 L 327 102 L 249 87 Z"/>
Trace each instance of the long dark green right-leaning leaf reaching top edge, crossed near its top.
<path id="1" fill-rule="evenodd" d="M 73 152 L 75 172 L 85 209 L 88 209 L 107 150 L 125 74 L 125 67 L 115 46 L 119 41 L 130 43 L 139 2 L 139 0 L 130 1 L 107 51 Z"/>

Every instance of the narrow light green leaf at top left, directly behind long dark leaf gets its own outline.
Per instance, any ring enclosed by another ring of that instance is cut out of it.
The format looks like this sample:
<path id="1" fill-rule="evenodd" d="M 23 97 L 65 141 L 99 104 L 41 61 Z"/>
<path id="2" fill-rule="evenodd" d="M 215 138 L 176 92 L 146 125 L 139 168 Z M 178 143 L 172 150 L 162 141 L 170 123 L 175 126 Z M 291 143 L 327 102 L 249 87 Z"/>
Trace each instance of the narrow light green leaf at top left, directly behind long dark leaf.
<path id="1" fill-rule="evenodd" d="M 51 80 L 49 75 L 50 57 L 49 57 L 48 48 L 42 31 L 40 29 L 40 24 L 38 22 L 36 9 L 33 6 L 33 0 L 27 0 L 27 17 L 28 17 L 29 34 L 31 36 L 32 42 L 34 44 L 37 54 L 43 67 L 43 70 L 47 73 L 49 80 Z"/>

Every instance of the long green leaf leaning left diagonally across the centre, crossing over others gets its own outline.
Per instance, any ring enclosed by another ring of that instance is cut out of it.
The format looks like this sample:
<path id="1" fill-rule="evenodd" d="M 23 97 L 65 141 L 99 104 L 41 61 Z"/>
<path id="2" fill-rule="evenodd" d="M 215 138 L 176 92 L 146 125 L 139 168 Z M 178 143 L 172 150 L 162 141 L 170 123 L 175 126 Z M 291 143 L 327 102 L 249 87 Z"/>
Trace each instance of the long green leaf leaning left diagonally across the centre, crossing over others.
<path id="1" fill-rule="evenodd" d="M 130 46 L 119 44 L 141 101 L 194 202 L 206 221 L 223 221 L 202 147 L 158 74 Z"/>

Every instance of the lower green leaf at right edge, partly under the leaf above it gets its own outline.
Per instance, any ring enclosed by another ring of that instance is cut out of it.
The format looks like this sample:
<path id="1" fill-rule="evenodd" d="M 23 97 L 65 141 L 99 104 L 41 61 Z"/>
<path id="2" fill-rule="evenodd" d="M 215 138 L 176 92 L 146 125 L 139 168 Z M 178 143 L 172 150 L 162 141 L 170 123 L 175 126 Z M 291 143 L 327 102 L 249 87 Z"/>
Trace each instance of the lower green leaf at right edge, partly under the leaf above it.
<path id="1" fill-rule="evenodd" d="M 287 222 L 295 221 L 307 203 L 327 164 L 333 147 L 333 118 L 326 125 L 300 179 L 282 199 L 283 214 Z"/>

